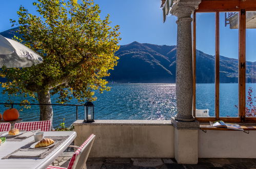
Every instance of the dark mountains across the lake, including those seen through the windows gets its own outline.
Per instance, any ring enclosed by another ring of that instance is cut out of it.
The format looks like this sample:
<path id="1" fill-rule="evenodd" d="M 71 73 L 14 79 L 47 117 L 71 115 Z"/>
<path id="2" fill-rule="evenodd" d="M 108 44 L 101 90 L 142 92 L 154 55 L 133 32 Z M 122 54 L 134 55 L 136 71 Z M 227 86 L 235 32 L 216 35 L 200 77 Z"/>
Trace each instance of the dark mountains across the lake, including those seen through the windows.
<path id="1" fill-rule="evenodd" d="M 13 28 L 0 34 L 18 36 Z M 117 83 L 175 83 L 176 46 L 141 44 L 134 41 L 116 52 L 120 57 L 106 79 Z M 246 62 L 247 82 L 256 82 L 256 62 Z M 196 82 L 213 83 L 215 56 L 196 50 Z M 1 79 L 0 79 L 1 80 Z M 238 59 L 220 56 L 220 82 L 238 82 Z"/>

